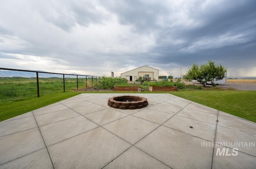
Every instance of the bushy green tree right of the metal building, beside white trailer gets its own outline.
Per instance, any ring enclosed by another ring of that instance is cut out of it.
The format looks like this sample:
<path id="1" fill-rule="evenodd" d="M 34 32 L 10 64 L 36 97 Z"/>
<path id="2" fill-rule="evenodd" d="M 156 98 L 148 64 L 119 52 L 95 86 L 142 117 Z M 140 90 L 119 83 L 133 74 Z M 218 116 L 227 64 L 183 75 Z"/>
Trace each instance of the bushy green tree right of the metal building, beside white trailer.
<path id="1" fill-rule="evenodd" d="M 227 69 L 222 65 L 214 64 L 214 61 L 208 61 L 204 65 L 193 64 L 191 68 L 183 75 L 186 80 L 197 80 L 204 87 L 207 82 L 211 82 L 211 85 L 216 86 L 214 80 L 221 80 L 225 77 Z"/>

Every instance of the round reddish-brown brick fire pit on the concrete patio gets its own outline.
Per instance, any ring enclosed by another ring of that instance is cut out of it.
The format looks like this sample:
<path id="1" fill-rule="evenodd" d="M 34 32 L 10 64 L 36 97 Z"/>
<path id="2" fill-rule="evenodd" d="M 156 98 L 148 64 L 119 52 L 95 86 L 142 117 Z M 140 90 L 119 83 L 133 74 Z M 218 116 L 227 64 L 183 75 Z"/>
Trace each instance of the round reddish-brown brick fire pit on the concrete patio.
<path id="1" fill-rule="evenodd" d="M 148 105 L 148 100 L 140 96 L 114 96 L 108 99 L 108 106 L 120 109 L 143 108 Z"/>

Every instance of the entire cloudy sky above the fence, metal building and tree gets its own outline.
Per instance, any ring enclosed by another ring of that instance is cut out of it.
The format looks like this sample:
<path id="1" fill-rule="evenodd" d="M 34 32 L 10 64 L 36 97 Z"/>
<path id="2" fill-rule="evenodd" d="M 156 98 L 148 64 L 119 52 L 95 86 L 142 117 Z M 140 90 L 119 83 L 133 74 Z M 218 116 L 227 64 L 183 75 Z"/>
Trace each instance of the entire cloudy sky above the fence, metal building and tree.
<path id="1" fill-rule="evenodd" d="M 256 77 L 256 0 L 0 0 L 0 67 L 180 77 L 215 61 Z"/>

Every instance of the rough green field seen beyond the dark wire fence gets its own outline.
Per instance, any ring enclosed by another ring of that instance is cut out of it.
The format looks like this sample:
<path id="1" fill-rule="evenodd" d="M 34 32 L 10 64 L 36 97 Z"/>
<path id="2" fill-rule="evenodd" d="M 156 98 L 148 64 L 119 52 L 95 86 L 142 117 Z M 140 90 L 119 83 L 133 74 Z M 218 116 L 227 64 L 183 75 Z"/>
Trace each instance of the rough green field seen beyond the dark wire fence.
<path id="1" fill-rule="evenodd" d="M 86 79 L 78 78 L 78 88 L 86 87 Z M 96 83 L 96 79 L 87 79 L 87 87 Z M 76 78 L 65 78 L 65 91 L 77 89 Z M 39 78 L 39 93 L 44 94 L 63 92 L 62 78 Z M 37 97 L 36 78 L 2 78 L 0 79 L 0 102 L 14 102 L 31 96 Z"/>

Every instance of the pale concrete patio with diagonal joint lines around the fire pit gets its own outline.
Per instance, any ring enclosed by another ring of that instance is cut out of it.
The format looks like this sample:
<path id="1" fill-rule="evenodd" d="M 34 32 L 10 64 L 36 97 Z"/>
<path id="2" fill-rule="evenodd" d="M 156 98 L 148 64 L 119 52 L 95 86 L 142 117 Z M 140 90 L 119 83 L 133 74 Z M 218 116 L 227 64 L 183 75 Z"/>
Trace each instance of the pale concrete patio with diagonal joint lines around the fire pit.
<path id="1" fill-rule="evenodd" d="M 0 122 L 0 169 L 255 169 L 255 142 L 256 123 L 171 94 L 80 94 Z"/>

